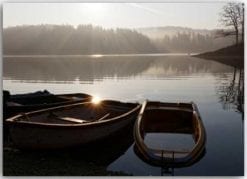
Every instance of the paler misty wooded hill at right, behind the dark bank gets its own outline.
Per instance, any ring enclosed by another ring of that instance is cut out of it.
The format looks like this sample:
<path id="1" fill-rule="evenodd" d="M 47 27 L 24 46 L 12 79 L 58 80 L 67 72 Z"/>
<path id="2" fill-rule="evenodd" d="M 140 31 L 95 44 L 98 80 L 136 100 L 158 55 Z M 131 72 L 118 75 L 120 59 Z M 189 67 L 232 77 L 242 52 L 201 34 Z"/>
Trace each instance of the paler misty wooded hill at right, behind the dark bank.
<path id="1" fill-rule="evenodd" d="M 182 53 L 201 53 L 234 44 L 234 37 L 216 38 L 215 30 L 187 27 L 146 27 L 136 29 L 146 35 L 159 50 Z"/>

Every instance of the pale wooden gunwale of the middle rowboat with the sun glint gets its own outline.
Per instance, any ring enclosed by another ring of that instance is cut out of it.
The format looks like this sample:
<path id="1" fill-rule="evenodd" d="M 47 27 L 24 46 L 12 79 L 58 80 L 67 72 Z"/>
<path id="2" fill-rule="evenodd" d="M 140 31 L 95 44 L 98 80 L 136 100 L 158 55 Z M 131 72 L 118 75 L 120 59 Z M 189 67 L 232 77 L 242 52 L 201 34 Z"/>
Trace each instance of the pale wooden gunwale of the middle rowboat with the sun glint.
<path id="1" fill-rule="evenodd" d="M 111 101 L 111 100 L 104 100 L 102 101 L 103 103 L 104 102 L 117 102 L 117 103 L 121 103 L 121 104 L 126 104 L 126 105 L 133 105 L 133 107 L 131 108 L 131 110 L 121 114 L 121 115 L 118 115 L 116 117 L 113 117 L 113 118 L 109 118 L 109 119 L 105 119 L 105 120 L 96 120 L 96 121 L 93 121 L 93 122 L 87 122 L 87 123 L 81 123 L 81 124 L 55 124 L 55 123 L 42 123 L 42 122 L 31 122 L 31 121 L 19 121 L 19 120 L 16 120 L 18 119 L 19 117 L 24 117 L 25 115 L 33 115 L 33 114 L 37 114 L 37 113 L 42 113 L 42 112 L 47 112 L 47 111 L 53 111 L 53 110 L 56 110 L 56 109 L 61 109 L 61 108 L 66 108 L 66 107 L 71 107 L 71 106 L 80 106 L 80 105 L 85 105 L 85 104 L 93 104 L 92 102 L 82 102 L 82 103 L 76 103 L 76 104 L 69 104 L 69 105 L 64 105 L 64 106 L 57 106 L 57 107 L 51 107 L 51 108 L 46 108 L 46 109 L 41 109 L 41 110 L 36 110 L 36 111 L 31 111 L 31 112 L 27 112 L 27 113 L 23 113 L 23 114 L 18 114 L 16 116 L 13 116 L 13 117 L 10 117 L 8 119 L 6 119 L 6 122 L 9 124 L 9 125 L 16 125 L 16 126 L 23 126 L 23 127 L 27 127 L 27 126 L 33 126 L 33 127 L 41 127 L 41 128 L 68 128 L 68 127 L 97 127 L 98 125 L 109 125 L 109 122 L 111 123 L 115 123 L 115 122 L 119 122 L 120 120 L 123 120 L 125 119 L 125 117 L 133 114 L 135 111 L 137 111 L 141 105 L 138 104 L 138 103 L 123 103 L 123 102 L 120 102 L 120 101 Z M 135 106 L 134 106 L 135 105 Z M 105 105 L 105 106 L 111 106 L 111 105 Z M 112 105 L 114 106 L 114 104 Z"/>

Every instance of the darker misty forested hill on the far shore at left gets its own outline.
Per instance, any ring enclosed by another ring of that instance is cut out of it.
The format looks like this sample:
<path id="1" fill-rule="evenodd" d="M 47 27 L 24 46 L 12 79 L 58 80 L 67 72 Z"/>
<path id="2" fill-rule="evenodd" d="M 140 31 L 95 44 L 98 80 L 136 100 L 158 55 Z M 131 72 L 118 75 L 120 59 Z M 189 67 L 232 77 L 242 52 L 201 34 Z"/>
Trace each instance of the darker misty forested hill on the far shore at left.
<path id="1" fill-rule="evenodd" d="M 4 54 L 157 53 L 146 36 L 92 25 L 16 26 L 3 30 Z"/>

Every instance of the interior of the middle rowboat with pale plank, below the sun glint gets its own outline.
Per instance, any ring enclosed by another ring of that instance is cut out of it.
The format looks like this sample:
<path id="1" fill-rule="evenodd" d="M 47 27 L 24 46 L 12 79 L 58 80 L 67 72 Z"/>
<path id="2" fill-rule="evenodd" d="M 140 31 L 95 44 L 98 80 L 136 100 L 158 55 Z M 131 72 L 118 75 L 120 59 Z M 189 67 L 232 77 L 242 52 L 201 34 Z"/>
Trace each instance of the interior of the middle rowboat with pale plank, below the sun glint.
<path id="1" fill-rule="evenodd" d="M 19 120 L 47 124 L 82 124 L 118 117 L 131 109 L 129 106 L 104 103 L 79 103 L 26 113 Z"/>

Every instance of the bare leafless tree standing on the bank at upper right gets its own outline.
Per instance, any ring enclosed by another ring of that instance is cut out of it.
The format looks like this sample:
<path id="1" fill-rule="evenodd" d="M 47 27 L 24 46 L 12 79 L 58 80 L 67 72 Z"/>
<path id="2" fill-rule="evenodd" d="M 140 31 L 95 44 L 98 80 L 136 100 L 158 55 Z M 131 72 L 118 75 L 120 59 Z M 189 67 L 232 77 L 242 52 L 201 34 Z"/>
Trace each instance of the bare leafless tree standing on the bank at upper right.
<path id="1" fill-rule="evenodd" d="M 227 3 L 223 7 L 220 21 L 225 26 L 233 27 L 234 31 L 222 31 L 223 36 L 235 35 L 236 44 L 238 44 L 240 28 L 242 29 L 242 42 L 244 40 L 244 4 L 242 3 Z"/>

